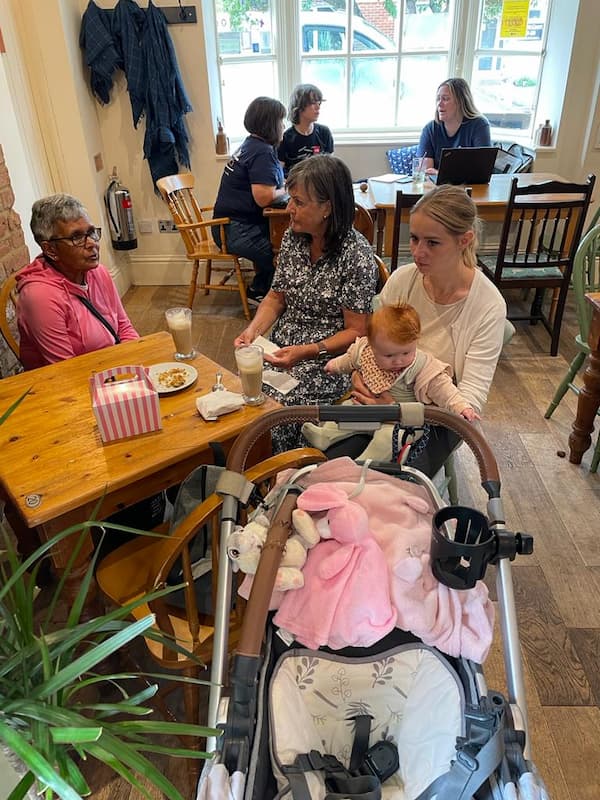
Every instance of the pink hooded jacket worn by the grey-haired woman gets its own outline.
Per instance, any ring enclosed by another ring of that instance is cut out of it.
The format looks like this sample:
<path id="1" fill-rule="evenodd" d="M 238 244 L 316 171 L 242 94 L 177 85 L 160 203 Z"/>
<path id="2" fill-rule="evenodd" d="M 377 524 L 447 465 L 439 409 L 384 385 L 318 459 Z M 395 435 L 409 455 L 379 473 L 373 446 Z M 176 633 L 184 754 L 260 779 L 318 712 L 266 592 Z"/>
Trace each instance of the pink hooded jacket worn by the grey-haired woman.
<path id="1" fill-rule="evenodd" d="M 115 343 L 77 299 L 87 297 L 121 341 L 138 339 L 113 280 L 102 264 L 87 273 L 87 289 L 71 283 L 40 254 L 17 275 L 20 359 L 25 369 L 101 350 Z"/>

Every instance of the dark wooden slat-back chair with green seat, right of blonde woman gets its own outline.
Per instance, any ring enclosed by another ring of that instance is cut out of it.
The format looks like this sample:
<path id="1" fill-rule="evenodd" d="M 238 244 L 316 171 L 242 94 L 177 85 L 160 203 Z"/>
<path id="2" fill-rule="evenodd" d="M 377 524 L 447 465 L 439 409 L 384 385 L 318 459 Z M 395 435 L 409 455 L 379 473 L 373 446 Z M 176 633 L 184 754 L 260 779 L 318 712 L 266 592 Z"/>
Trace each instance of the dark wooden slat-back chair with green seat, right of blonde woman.
<path id="1" fill-rule="evenodd" d="M 587 214 L 595 175 L 585 183 L 548 181 L 519 186 L 513 178 L 498 254 L 479 257 L 478 264 L 500 291 L 535 289 L 529 313 L 513 321 L 542 322 L 551 336 L 550 354 L 558 353 L 560 329 L 573 271 L 573 261 Z M 550 313 L 543 308 L 544 291 L 557 290 Z"/>

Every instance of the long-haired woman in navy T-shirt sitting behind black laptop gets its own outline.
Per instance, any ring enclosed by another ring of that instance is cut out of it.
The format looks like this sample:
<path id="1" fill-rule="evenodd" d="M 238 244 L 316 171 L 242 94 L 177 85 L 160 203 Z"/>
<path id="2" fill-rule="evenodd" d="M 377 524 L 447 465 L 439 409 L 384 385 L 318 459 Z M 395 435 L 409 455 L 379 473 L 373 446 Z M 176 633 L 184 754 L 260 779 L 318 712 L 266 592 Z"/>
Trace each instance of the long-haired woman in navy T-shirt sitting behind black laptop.
<path id="1" fill-rule="evenodd" d="M 418 154 L 425 171 L 436 175 L 445 147 L 490 147 L 490 123 L 475 107 L 469 84 L 448 78 L 437 88 L 435 119 L 421 131 Z"/>

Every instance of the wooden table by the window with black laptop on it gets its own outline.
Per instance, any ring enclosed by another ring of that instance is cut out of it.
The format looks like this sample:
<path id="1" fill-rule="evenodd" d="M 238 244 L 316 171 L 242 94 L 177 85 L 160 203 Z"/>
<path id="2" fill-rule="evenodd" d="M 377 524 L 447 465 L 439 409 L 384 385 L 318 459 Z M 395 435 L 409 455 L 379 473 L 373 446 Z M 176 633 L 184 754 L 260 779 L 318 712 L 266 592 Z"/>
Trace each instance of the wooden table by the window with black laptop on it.
<path id="1" fill-rule="evenodd" d="M 549 172 L 520 172 L 508 175 L 492 175 L 489 183 L 473 184 L 471 197 L 477 206 L 477 213 L 486 222 L 502 222 L 506 213 L 512 179 L 517 178 L 519 186 L 544 183 L 550 180 L 564 180 Z M 430 192 L 435 184 L 425 181 L 423 185 L 413 183 L 383 183 L 366 181 L 367 189 L 362 191 L 360 184 L 354 186 L 354 202 L 371 212 L 375 219 L 376 252 L 389 256 L 392 251 L 392 232 L 396 193 L 421 195 Z M 289 225 L 289 212 L 285 208 L 265 208 L 264 216 L 269 221 L 271 244 L 275 251 L 281 246 L 281 239 Z"/>

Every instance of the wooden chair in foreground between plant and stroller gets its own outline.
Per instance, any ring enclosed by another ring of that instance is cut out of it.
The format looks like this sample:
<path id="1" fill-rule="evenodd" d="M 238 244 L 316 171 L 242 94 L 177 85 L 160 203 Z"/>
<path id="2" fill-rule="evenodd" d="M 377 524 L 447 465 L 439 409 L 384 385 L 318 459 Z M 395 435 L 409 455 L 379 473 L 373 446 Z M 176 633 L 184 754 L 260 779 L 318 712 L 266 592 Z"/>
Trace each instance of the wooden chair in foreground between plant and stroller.
<path id="1" fill-rule="evenodd" d="M 249 468 L 244 474 L 256 484 L 270 481 L 281 470 L 319 463 L 325 456 L 319 450 L 301 448 L 281 453 L 265 459 Z M 117 547 L 107 555 L 96 569 L 96 581 L 105 597 L 114 605 L 125 606 L 144 595 L 172 582 L 173 568 L 181 564 L 181 583 L 185 584 L 181 604 L 175 603 L 171 595 L 142 603 L 132 610 L 136 619 L 155 615 L 154 628 L 166 634 L 187 653 L 165 646 L 164 642 L 145 636 L 145 643 L 151 658 L 166 669 L 180 672 L 184 677 L 197 679 L 205 664 L 212 658 L 214 633 L 214 601 L 216 596 L 216 576 L 219 571 L 219 533 L 220 511 L 223 504 L 218 494 L 211 494 L 204 502 L 191 511 L 183 521 L 164 537 L 137 536 Z M 192 571 L 191 548 L 196 534 L 208 525 L 212 533 L 212 612 L 199 610 L 194 574 Z M 110 535 L 110 531 L 108 532 Z M 242 613 L 240 603 L 236 602 L 229 622 L 229 644 L 235 647 L 241 627 Z M 163 698 L 168 690 L 161 687 L 159 701 L 163 713 L 169 714 Z M 183 683 L 185 720 L 198 723 L 199 690 L 198 685 Z M 171 715 L 171 714 L 169 714 Z"/>

